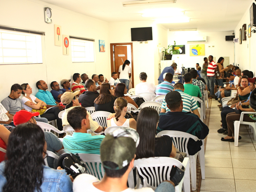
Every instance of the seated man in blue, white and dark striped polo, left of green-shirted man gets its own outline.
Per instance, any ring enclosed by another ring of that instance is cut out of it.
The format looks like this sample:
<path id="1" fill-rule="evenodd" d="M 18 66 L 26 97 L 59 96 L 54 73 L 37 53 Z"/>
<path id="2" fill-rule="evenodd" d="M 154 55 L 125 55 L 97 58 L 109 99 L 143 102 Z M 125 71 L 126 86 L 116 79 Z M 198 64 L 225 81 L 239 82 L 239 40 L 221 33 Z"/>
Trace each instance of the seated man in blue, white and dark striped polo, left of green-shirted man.
<path id="1" fill-rule="evenodd" d="M 166 73 L 164 76 L 164 82 L 157 85 L 156 96 L 166 95 L 173 90 L 172 78 L 173 75 L 171 73 Z"/>

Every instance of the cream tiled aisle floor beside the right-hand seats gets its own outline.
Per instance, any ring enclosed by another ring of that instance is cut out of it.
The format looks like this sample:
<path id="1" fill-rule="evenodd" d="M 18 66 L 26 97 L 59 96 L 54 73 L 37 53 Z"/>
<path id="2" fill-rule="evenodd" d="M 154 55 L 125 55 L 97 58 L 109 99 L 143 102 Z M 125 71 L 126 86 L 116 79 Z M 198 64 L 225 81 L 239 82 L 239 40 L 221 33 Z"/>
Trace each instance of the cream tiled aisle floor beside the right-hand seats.
<path id="1" fill-rule="evenodd" d="M 249 126 L 242 125 L 242 137 L 238 147 L 234 142 L 221 141 L 225 135 L 217 133 L 220 128 L 218 101 L 212 99 L 209 117 L 209 135 L 205 148 L 205 180 L 200 191 L 255 192 L 256 191 L 256 141 Z"/>

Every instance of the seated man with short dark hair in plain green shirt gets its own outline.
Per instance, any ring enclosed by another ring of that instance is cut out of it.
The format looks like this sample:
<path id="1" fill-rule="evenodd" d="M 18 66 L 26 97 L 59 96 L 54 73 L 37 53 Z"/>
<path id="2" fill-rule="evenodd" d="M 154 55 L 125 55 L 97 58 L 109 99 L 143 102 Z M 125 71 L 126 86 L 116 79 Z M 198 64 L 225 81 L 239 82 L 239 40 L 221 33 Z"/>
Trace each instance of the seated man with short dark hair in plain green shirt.
<path id="1" fill-rule="evenodd" d="M 202 97 L 202 93 L 200 91 L 200 88 L 196 85 L 193 85 L 193 79 L 192 79 L 192 74 L 191 73 L 186 73 L 184 75 L 184 93 L 192 96 L 192 97 Z M 199 105 L 197 104 L 197 106 L 199 107 Z"/>

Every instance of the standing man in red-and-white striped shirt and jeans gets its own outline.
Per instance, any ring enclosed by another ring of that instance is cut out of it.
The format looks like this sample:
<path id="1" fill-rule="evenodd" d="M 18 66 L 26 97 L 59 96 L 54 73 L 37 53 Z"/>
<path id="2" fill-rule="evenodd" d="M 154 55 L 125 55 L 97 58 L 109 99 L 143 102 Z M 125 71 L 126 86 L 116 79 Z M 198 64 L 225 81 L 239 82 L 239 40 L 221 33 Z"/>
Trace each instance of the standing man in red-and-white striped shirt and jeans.
<path id="1" fill-rule="evenodd" d="M 215 71 L 217 69 L 216 63 L 213 61 L 213 56 L 210 55 L 209 58 L 209 65 L 207 68 L 207 87 L 210 87 L 210 97 L 209 99 L 212 99 L 214 96 L 214 81 L 215 81 Z"/>

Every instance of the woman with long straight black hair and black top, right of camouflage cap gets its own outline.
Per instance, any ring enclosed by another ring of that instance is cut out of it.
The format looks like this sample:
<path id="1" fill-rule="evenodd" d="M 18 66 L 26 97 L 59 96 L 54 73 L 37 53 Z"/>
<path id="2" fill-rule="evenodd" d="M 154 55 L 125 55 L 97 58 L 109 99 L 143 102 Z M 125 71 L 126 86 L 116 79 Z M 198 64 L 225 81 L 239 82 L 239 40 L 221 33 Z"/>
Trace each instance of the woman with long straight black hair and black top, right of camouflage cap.
<path id="1" fill-rule="evenodd" d="M 175 157 L 176 148 L 168 135 L 156 138 L 159 116 L 154 108 L 145 107 L 137 118 L 137 132 L 140 143 L 136 150 L 136 159 L 149 157 Z"/>

